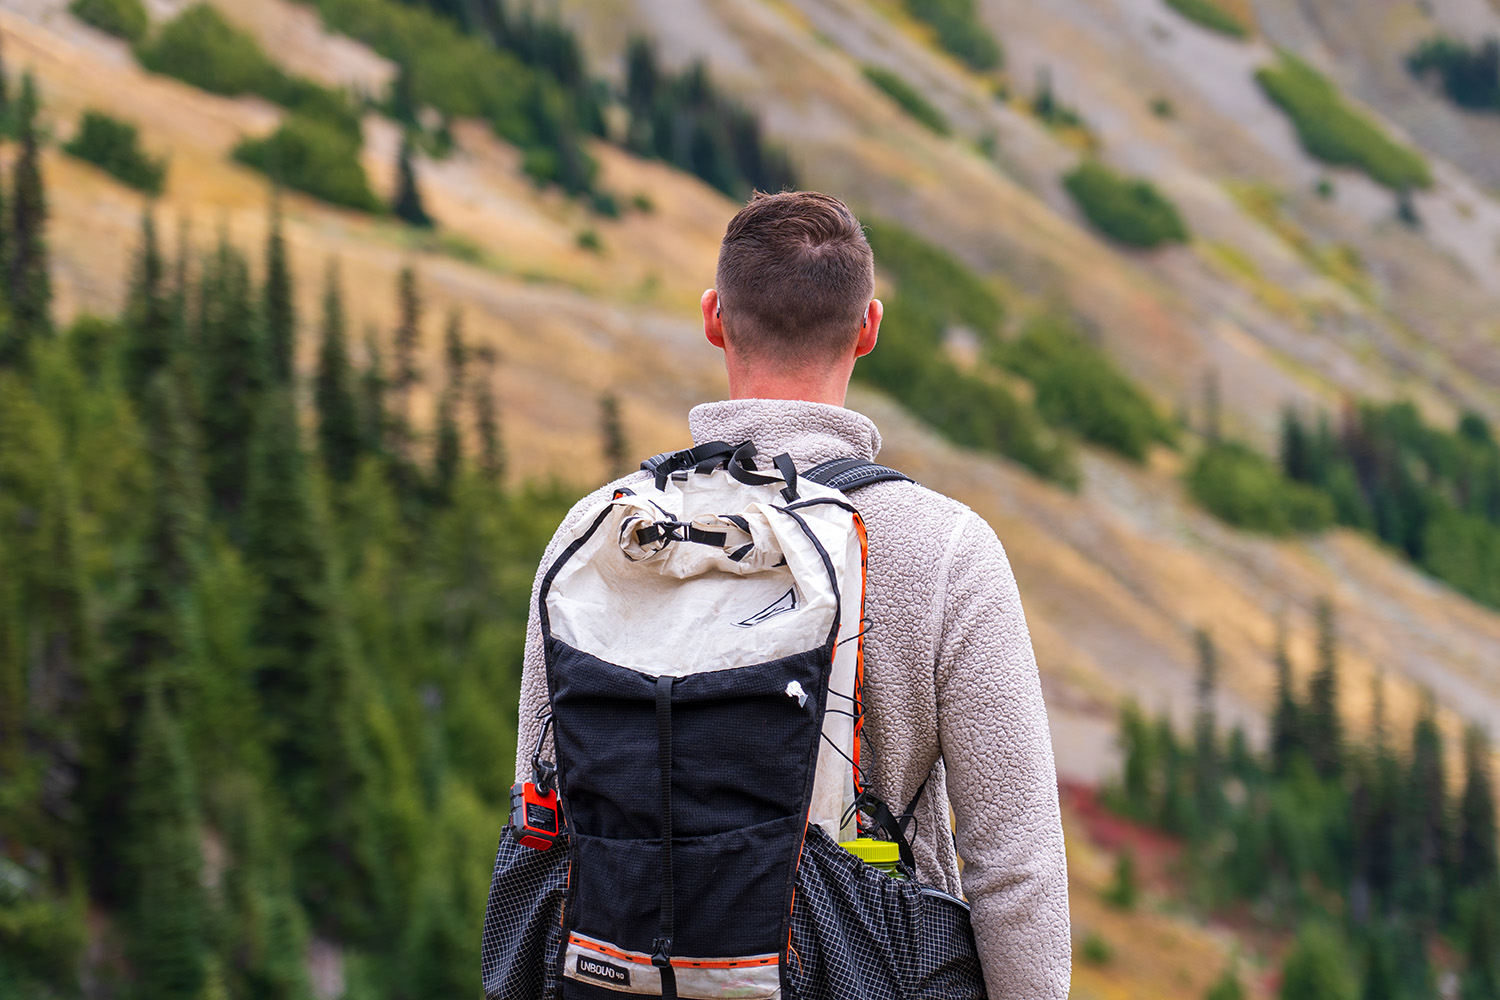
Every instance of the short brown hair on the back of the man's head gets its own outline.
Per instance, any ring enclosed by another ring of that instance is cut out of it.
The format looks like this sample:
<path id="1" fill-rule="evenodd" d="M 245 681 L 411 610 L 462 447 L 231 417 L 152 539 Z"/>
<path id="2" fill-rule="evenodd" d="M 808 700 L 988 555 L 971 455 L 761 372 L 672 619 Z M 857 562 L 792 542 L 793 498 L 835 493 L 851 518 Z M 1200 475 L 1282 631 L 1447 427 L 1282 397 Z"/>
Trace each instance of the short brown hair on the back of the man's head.
<path id="1" fill-rule="evenodd" d="M 824 360 L 854 345 L 874 295 L 874 253 L 830 195 L 756 193 L 718 247 L 724 336 L 752 357 Z"/>

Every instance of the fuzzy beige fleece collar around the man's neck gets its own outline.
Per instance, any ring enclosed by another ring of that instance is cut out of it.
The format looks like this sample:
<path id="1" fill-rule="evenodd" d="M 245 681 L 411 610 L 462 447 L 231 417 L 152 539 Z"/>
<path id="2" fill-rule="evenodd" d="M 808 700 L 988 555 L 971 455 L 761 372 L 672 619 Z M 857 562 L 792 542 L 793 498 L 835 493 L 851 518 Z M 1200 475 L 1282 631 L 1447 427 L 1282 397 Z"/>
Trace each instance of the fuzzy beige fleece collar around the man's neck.
<path id="1" fill-rule="evenodd" d="M 766 459 L 786 453 L 798 466 L 830 459 L 873 460 L 880 453 L 874 421 L 843 406 L 789 399 L 728 399 L 687 415 L 693 444 L 753 441 Z"/>

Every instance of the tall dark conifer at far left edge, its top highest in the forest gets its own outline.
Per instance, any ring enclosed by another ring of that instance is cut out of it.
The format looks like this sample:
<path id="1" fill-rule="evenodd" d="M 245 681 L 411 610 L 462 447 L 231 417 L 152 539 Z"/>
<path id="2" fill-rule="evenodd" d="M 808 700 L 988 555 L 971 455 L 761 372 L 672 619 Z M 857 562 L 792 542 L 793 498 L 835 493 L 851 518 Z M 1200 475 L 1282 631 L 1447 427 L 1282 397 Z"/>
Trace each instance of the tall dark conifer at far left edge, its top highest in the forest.
<path id="1" fill-rule="evenodd" d="M 10 232 L 8 252 L 8 289 L 10 322 L 22 342 L 51 331 L 52 279 L 46 264 L 46 195 L 42 190 L 39 100 L 32 73 L 21 78 L 16 99 L 16 142 L 14 189 L 10 195 Z"/>

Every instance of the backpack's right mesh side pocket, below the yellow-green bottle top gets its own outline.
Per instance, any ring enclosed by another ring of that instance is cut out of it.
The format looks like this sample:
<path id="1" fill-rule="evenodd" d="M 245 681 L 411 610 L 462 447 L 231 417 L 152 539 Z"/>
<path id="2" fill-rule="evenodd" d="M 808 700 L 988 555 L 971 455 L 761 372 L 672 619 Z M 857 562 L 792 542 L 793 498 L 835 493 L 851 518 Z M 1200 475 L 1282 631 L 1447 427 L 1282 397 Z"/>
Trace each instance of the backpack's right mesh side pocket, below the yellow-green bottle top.
<path id="1" fill-rule="evenodd" d="M 969 909 L 810 826 L 786 955 L 790 1000 L 986 1000 Z"/>

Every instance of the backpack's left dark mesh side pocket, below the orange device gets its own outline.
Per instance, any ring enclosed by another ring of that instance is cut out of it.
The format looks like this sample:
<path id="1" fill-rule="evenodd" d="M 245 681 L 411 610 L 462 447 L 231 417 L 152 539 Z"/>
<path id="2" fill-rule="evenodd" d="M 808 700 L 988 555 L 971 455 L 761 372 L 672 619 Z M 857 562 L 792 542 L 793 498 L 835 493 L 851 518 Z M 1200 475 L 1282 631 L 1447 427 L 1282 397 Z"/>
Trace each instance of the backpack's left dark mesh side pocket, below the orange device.
<path id="1" fill-rule="evenodd" d="M 543 852 L 522 847 L 506 828 L 480 942 L 486 1000 L 555 1000 L 567 880 L 567 835 Z"/>

